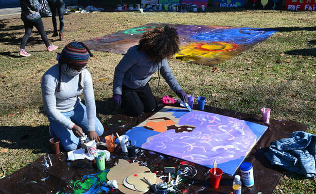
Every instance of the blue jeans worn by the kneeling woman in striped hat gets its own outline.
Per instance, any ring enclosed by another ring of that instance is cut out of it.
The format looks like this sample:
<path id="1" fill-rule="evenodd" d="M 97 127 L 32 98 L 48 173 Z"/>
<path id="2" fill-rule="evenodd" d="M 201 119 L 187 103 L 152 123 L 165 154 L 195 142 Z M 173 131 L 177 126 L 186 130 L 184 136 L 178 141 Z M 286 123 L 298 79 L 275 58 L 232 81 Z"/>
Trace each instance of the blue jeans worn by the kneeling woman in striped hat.
<path id="1" fill-rule="evenodd" d="M 69 112 L 61 112 L 66 118 L 74 122 L 76 125 L 82 128 L 82 130 L 88 135 L 88 117 L 86 106 L 79 102 L 75 109 Z M 77 149 L 79 145 L 79 138 L 76 137 L 72 130 L 65 128 L 63 125 L 55 121 L 50 115 L 46 114 L 50 121 L 50 126 L 53 134 L 59 138 L 60 144 L 66 151 Z M 100 120 L 95 117 L 95 132 L 98 136 L 103 134 L 104 128 Z"/>

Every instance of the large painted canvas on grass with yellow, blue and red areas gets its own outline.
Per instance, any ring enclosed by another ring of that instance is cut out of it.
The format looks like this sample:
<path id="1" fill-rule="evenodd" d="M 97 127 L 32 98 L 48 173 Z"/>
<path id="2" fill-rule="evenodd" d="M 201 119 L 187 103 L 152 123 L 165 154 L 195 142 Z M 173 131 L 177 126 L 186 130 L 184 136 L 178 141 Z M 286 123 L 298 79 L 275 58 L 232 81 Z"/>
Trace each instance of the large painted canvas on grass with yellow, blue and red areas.
<path id="1" fill-rule="evenodd" d="M 130 47 L 138 44 L 143 32 L 164 25 L 176 28 L 179 34 L 180 51 L 175 57 L 203 65 L 215 65 L 225 61 L 275 33 L 268 29 L 246 27 L 149 23 L 93 38 L 84 43 L 92 50 L 125 54 Z"/>

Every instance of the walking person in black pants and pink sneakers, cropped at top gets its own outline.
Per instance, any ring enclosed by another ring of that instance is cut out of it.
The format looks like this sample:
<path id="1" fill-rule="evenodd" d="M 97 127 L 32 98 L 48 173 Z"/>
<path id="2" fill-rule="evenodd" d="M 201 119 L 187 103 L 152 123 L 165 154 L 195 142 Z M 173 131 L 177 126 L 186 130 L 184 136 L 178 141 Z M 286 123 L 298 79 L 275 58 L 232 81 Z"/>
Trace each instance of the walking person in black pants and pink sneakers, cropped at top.
<path id="1" fill-rule="evenodd" d="M 44 30 L 42 18 L 39 14 L 39 9 L 41 8 L 41 4 L 38 2 L 38 0 L 20 0 L 20 6 L 21 6 L 21 19 L 24 23 L 25 28 L 25 34 L 22 38 L 22 44 L 20 47 L 19 54 L 24 57 L 28 57 L 31 54 L 27 53 L 25 51 L 25 46 L 27 43 L 27 40 L 29 39 L 33 26 L 37 29 L 37 31 L 40 33 L 45 46 L 47 47 L 48 51 L 56 50 L 58 47 L 54 46 L 53 44 L 50 45 L 46 32 Z"/>

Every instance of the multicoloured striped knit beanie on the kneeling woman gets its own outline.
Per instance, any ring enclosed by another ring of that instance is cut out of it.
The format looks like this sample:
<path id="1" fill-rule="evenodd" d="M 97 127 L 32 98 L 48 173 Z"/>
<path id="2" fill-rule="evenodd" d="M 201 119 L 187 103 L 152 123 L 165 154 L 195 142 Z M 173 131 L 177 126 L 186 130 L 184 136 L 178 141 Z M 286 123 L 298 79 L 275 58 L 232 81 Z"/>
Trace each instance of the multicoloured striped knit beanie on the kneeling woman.
<path id="1" fill-rule="evenodd" d="M 89 54 L 93 56 L 82 42 L 71 42 L 61 51 L 60 57 L 69 65 L 84 67 L 88 63 Z"/>

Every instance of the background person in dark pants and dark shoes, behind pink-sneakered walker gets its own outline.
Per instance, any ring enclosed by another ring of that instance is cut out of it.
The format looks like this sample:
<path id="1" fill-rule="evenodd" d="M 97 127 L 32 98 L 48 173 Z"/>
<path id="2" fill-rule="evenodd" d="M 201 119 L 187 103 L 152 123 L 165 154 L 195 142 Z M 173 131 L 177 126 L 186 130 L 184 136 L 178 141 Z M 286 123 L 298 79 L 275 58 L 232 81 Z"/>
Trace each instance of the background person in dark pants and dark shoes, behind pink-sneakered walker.
<path id="1" fill-rule="evenodd" d="M 63 0 L 48 0 L 48 5 L 51 8 L 52 12 L 52 20 L 54 33 L 52 37 L 58 36 L 57 32 L 57 22 L 56 22 L 56 12 L 58 13 L 59 18 L 59 40 L 63 39 L 63 31 L 64 31 L 64 1 Z"/>

